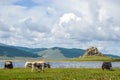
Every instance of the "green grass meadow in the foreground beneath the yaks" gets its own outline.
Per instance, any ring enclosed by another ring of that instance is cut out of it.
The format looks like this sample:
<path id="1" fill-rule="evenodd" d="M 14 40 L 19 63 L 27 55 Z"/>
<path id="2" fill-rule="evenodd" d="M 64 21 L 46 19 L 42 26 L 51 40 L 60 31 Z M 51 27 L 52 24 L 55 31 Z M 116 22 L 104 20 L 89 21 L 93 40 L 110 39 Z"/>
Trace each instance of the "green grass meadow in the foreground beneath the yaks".
<path id="1" fill-rule="evenodd" d="M 31 69 L 0 69 L 0 80 L 120 80 L 120 69 L 53 68 L 45 72 Z"/>

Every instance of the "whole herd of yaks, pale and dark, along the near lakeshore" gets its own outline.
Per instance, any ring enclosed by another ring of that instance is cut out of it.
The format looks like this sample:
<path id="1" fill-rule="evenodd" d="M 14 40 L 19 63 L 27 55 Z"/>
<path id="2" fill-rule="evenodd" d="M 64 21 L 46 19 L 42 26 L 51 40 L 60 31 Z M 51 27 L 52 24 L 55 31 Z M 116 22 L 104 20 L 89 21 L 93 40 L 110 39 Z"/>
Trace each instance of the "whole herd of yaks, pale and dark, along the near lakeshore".
<path id="1" fill-rule="evenodd" d="M 35 61 L 35 62 L 26 62 L 25 63 L 25 68 L 31 68 L 31 72 L 33 72 L 34 70 L 44 72 L 45 68 L 50 68 L 50 67 L 51 67 L 50 64 L 46 63 L 45 61 Z M 12 61 L 5 61 L 4 68 L 12 69 L 13 68 Z M 103 62 L 101 68 L 102 68 L 102 70 L 104 70 L 104 69 L 112 70 L 112 64 L 111 64 L 111 62 Z"/>

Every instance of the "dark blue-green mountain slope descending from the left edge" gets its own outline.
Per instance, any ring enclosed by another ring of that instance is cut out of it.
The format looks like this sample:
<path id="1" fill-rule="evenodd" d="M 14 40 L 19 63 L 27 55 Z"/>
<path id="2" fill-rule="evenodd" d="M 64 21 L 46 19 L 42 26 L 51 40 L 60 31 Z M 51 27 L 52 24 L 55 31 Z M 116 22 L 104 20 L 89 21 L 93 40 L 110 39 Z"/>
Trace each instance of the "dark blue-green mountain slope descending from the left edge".
<path id="1" fill-rule="evenodd" d="M 17 49 L 16 47 L 0 45 L 0 56 L 6 57 L 40 57 L 24 50 Z"/>

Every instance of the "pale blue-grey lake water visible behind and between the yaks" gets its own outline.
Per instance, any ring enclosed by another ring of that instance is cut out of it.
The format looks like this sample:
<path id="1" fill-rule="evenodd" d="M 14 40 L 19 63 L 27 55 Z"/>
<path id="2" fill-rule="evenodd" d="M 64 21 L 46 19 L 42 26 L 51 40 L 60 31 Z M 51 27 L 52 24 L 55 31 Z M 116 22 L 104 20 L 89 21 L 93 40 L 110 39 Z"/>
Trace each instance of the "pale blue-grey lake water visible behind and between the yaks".
<path id="1" fill-rule="evenodd" d="M 51 68 L 101 68 L 103 62 L 48 62 Z M 4 61 L 0 62 L 0 68 L 4 68 Z M 25 62 L 13 61 L 15 68 L 24 68 Z M 120 68 L 120 62 L 112 62 L 113 68 Z"/>

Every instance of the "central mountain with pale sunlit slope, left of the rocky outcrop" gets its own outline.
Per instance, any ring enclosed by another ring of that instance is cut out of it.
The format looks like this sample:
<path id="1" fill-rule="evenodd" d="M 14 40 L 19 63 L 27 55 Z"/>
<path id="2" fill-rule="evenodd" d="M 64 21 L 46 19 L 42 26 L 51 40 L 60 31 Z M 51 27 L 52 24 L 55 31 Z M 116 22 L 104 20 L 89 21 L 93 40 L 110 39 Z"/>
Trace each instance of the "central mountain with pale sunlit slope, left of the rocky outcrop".
<path id="1" fill-rule="evenodd" d="M 84 50 L 53 47 L 43 51 L 39 51 L 37 52 L 37 54 L 48 59 L 77 58 L 84 54 Z"/>

